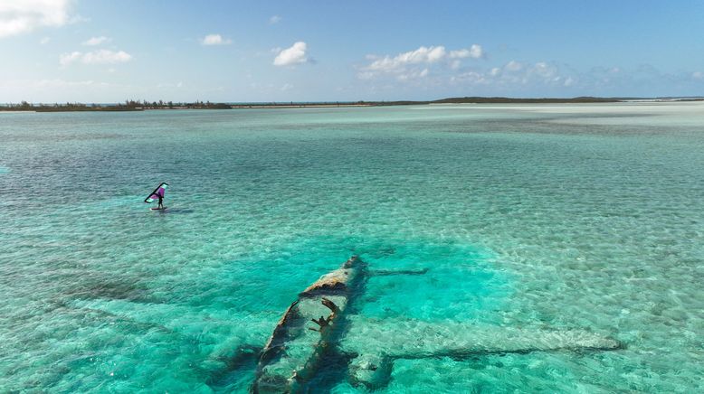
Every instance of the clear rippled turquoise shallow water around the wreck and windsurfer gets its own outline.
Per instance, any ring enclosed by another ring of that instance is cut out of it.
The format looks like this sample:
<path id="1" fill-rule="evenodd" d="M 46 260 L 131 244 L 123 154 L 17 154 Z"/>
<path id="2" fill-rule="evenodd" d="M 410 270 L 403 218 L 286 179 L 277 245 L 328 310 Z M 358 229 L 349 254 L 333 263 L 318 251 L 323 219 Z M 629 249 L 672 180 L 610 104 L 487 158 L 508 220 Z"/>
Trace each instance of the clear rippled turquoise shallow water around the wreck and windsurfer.
<path id="1" fill-rule="evenodd" d="M 3 113 L 0 391 L 245 392 L 353 254 L 429 268 L 369 278 L 390 338 L 623 343 L 402 357 L 379 392 L 700 391 L 703 180 L 698 103 Z M 366 390 L 340 370 L 319 390 Z"/>

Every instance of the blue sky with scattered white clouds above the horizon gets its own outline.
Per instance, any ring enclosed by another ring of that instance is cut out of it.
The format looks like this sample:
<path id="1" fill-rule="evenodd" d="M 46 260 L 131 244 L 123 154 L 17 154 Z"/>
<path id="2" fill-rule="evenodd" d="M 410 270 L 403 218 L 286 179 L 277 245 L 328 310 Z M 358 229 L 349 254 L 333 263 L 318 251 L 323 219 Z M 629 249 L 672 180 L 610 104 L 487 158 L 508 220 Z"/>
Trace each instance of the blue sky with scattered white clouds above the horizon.
<path id="1" fill-rule="evenodd" d="M 0 102 L 704 95 L 701 1 L 0 1 Z"/>

